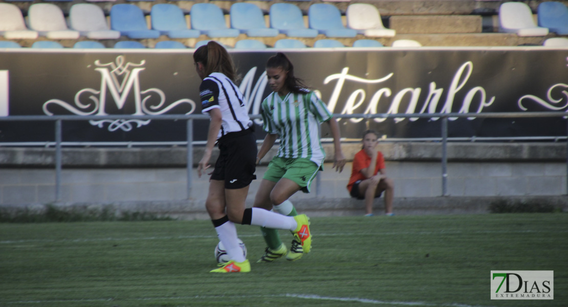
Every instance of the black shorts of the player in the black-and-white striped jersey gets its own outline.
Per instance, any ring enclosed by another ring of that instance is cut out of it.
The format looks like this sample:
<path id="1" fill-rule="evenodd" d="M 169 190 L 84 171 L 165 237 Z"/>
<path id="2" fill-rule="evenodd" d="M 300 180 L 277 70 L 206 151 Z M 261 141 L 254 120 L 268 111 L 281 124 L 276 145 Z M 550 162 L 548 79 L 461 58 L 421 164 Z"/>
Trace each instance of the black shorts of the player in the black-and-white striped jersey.
<path id="1" fill-rule="evenodd" d="M 212 180 L 224 180 L 225 188 L 244 188 L 256 179 L 256 137 L 249 129 L 228 133 L 219 139 L 219 158 Z"/>

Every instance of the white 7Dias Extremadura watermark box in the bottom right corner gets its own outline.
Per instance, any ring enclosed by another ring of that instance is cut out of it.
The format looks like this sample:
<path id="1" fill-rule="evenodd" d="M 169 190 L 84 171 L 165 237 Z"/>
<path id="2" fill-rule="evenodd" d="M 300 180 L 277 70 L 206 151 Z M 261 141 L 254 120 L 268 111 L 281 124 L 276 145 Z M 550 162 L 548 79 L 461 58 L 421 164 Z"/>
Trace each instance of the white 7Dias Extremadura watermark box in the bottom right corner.
<path id="1" fill-rule="evenodd" d="M 491 300 L 553 300 L 554 271 L 491 271 Z"/>

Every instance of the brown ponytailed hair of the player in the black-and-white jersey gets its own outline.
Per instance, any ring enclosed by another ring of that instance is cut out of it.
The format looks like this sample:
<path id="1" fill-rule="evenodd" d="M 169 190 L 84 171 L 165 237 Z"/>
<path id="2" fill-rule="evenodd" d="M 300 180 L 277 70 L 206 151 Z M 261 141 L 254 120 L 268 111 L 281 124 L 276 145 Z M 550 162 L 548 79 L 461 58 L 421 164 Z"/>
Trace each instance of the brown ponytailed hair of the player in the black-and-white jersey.
<path id="1" fill-rule="evenodd" d="M 205 66 L 205 75 L 212 73 L 222 73 L 236 82 L 238 79 L 235 65 L 227 49 L 216 41 L 209 41 L 207 45 L 203 45 L 193 53 L 193 61 L 201 62 Z"/>

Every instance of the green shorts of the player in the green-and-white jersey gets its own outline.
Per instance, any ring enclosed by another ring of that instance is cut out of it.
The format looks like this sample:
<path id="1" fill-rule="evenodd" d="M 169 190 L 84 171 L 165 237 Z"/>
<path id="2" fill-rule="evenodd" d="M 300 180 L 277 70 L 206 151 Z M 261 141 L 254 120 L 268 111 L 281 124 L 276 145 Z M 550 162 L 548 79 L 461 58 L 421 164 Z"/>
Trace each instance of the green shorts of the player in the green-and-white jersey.
<path id="1" fill-rule="evenodd" d="M 262 178 L 273 182 L 278 182 L 281 178 L 290 179 L 300 186 L 302 192 L 309 193 L 312 180 L 319 169 L 310 159 L 274 157 L 268 163 L 268 169 Z"/>

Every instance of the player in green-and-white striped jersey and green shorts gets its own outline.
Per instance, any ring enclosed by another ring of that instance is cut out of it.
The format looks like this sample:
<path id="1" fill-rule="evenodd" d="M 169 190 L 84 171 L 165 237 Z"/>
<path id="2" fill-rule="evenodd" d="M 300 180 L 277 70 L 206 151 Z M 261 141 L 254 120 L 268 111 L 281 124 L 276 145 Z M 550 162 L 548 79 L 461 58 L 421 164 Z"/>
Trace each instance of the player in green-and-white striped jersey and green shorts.
<path id="1" fill-rule="evenodd" d="M 341 152 L 339 125 L 314 92 L 294 76 L 294 65 L 285 54 L 279 52 L 269 58 L 266 75 L 273 92 L 261 105 L 262 128 L 268 134 L 258 150 L 257 163 L 278 137 L 280 146 L 258 187 L 254 207 L 296 216 L 289 197 L 300 190 L 310 192 L 312 180 L 323 169 L 325 152 L 319 137 L 320 123 L 329 124 L 335 145 L 333 167 L 343 171 L 345 158 Z M 292 261 L 302 257 L 304 249 L 297 236 L 288 250 L 276 229 L 261 227 L 261 231 L 268 247 L 258 262 L 272 262 L 284 255 Z"/>

